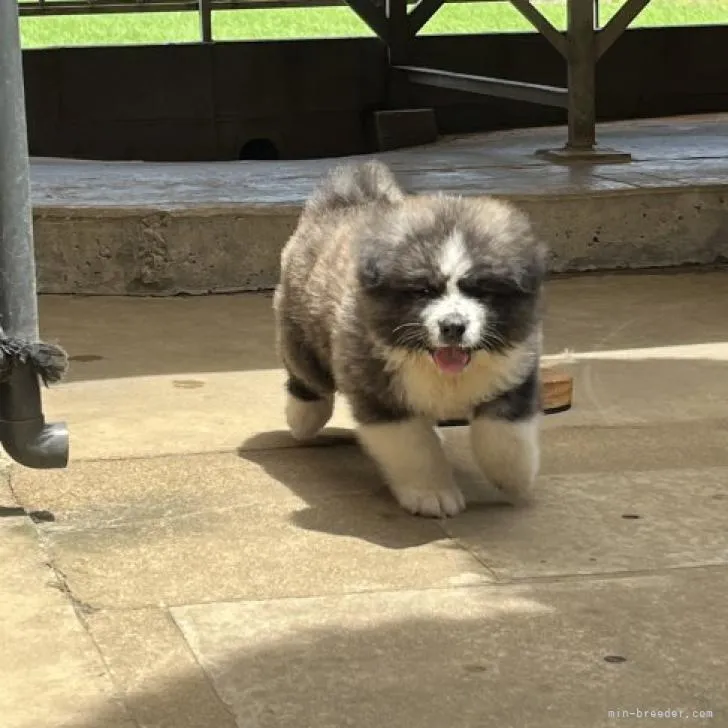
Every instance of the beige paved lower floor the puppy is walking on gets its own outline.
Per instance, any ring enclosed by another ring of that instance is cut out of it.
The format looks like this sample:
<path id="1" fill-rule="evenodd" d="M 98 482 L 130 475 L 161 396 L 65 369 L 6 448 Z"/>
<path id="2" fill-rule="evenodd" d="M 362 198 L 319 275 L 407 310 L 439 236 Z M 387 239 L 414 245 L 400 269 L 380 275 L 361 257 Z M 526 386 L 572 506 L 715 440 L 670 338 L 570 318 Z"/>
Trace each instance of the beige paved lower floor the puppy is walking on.
<path id="1" fill-rule="evenodd" d="M 43 298 L 73 462 L 0 486 L 55 517 L 0 520 L 2 728 L 728 726 L 728 273 L 548 298 L 575 406 L 535 502 L 451 429 L 443 522 L 395 507 L 344 407 L 290 440 L 269 296 Z"/>

